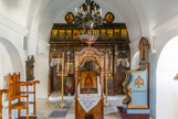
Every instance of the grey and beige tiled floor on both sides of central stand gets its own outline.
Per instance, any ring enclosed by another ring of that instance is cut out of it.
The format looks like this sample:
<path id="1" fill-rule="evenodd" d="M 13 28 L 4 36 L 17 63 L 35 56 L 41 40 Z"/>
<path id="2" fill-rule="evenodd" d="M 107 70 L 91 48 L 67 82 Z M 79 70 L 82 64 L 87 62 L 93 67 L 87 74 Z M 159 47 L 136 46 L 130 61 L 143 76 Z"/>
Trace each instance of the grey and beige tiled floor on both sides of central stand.
<path id="1" fill-rule="evenodd" d="M 65 98 L 66 99 L 66 98 Z M 112 98 L 111 98 L 112 99 Z M 117 100 L 109 100 L 111 106 L 105 108 L 104 110 L 104 119 L 121 119 L 116 106 L 121 105 L 119 98 L 116 98 Z M 59 107 L 60 101 L 49 101 L 48 99 L 38 99 L 36 100 L 36 112 L 39 119 L 75 119 L 74 113 L 74 99 L 67 98 L 65 101 L 72 102 L 71 108 L 67 110 L 67 115 L 65 118 L 50 118 L 49 116 L 53 112 L 53 110 L 61 109 Z"/>

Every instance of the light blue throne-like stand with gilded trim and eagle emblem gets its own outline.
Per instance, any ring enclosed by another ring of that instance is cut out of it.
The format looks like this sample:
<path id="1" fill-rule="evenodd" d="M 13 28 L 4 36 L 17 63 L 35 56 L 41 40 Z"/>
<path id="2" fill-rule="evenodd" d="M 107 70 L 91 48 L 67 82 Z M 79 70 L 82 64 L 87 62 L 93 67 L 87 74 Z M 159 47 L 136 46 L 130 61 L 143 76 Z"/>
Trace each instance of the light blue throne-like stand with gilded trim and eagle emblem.
<path id="1" fill-rule="evenodd" d="M 149 43 L 142 37 L 139 42 L 139 68 L 126 71 L 123 83 L 125 99 L 118 107 L 123 119 L 149 119 Z"/>

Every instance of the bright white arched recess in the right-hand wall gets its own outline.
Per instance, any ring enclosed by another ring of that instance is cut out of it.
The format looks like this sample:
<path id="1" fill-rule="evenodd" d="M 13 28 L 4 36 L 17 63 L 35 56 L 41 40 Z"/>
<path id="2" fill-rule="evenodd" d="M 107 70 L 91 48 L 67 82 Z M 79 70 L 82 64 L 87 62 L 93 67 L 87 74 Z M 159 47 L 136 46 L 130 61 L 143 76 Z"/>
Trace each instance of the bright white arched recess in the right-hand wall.
<path id="1" fill-rule="evenodd" d="M 178 36 L 170 40 L 160 53 L 157 65 L 157 119 L 178 117 Z"/>

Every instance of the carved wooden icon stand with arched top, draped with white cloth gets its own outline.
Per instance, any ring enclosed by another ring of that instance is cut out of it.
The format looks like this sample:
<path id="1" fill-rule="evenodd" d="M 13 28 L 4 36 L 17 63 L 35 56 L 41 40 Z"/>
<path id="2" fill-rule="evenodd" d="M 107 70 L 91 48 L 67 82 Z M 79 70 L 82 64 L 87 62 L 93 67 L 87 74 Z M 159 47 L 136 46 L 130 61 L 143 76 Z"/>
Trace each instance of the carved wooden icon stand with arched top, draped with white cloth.
<path id="1" fill-rule="evenodd" d="M 75 53 L 75 119 L 104 118 L 104 58 L 94 47 Z M 87 63 L 95 65 L 84 69 Z"/>

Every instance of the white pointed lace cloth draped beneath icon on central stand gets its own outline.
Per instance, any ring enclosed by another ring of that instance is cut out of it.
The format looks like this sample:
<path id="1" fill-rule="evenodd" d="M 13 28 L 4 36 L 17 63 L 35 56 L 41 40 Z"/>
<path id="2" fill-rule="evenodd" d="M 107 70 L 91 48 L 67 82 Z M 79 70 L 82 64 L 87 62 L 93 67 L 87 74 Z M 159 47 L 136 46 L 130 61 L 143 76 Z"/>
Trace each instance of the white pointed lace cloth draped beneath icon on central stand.
<path id="1" fill-rule="evenodd" d="M 101 100 L 101 84 L 100 84 L 100 78 L 97 76 L 97 94 L 81 94 L 81 84 L 78 84 L 77 87 L 77 99 L 83 107 L 83 109 L 88 112 L 91 109 L 93 109 L 98 101 Z"/>

